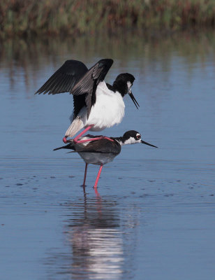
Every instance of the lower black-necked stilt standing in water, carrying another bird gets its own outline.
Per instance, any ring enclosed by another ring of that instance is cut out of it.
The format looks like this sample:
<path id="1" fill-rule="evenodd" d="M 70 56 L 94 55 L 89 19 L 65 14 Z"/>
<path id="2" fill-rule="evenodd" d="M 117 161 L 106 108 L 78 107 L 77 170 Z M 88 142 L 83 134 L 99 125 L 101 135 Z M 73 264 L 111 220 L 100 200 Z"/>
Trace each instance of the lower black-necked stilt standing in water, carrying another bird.
<path id="1" fill-rule="evenodd" d="M 85 137 L 81 137 L 81 139 L 97 139 L 97 137 L 94 135 L 87 134 Z M 57 151 L 61 148 L 66 148 L 74 151 L 70 153 L 79 153 L 81 158 L 86 163 L 83 186 L 85 186 L 87 176 L 87 165 L 89 163 L 91 163 L 92 165 L 100 165 L 98 175 L 96 177 L 96 183 L 94 185 L 94 188 L 97 188 L 98 179 L 100 177 L 103 165 L 105 165 L 108 162 L 112 162 L 112 160 L 114 160 L 114 158 L 117 155 L 119 155 L 121 151 L 121 146 L 126 144 L 142 143 L 158 148 L 145 141 L 142 141 L 140 133 L 136 132 L 135 130 L 129 130 L 124 134 L 123 137 L 110 137 L 110 139 L 112 141 L 110 141 L 109 139 L 99 139 L 90 141 L 89 143 L 75 143 L 74 140 L 68 140 L 70 144 L 59 148 L 55 148 L 54 151 Z"/>

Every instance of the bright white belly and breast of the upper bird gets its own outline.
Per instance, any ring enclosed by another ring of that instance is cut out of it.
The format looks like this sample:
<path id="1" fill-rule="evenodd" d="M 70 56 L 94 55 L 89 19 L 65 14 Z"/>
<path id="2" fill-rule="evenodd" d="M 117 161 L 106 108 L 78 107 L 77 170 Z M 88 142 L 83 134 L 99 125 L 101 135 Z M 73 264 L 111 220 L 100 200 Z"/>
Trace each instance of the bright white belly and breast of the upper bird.
<path id="1" fill-rule="evenodd" d="M 96 104 L 91 107 L 89 118 L 84 119 L 84 127 L 94 125 L 91 131 L 101 131 L 121 123 L 125 104 L 119 92 L 112 92 L 103 81 L 96 89 Z"/>

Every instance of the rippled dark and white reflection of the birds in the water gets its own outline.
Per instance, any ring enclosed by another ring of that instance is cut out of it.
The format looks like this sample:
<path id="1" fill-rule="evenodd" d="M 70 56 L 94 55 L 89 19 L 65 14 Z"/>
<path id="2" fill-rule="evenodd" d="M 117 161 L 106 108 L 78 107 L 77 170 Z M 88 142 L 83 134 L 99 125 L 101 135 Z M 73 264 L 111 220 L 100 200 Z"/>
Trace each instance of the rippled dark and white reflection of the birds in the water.
<path id="1" fill-rule="evenodd" d="M 71 205 L 75 212 L 68 220 L 68 240 L 73 251 L 72 279 L 121 279 L 124 264 L 122 233 L 114 202 L 95 198 Z"/>

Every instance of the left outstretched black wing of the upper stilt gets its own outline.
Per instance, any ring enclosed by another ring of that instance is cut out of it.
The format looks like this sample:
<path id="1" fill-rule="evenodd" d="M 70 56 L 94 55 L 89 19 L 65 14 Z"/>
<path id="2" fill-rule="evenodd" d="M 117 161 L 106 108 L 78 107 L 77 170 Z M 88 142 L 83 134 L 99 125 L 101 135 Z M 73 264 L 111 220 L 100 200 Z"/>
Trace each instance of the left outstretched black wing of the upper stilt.
<path id="1" fill-rule="evenodd" d="M 87 66 L 78 60 L 66 60 L 64 64 L 40 87 L 38 94 L 71 92 L 74 85 L 85 73 Z"/>

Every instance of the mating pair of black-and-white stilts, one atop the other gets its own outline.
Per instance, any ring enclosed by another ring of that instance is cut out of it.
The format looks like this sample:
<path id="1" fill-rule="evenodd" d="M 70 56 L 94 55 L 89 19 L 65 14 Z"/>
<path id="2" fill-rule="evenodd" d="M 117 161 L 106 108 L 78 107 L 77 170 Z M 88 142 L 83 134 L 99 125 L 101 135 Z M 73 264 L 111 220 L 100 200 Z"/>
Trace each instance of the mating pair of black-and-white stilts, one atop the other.
<path id="1" fill-rule="evenodd" d="M 101 59 L 90 69 L 77 60 L 67 60 L 36 92 L 38 94 L 57 94 L 70 92 L 73 94 L 73 118 L 71 125 L 66 131 L 63 139 L 66 146 L 55 148 L 71 149 L 79 153 L 86 163 L 84 172 L 85 186 L 87 176 L 87 165 L 100 165 L 94 188 L 97 188 L 98 179 L 103 165 L 119 155 L 121 146 L 126 144 L 142 143 L 157 148 L 145 141 L 135 130 L 129 130 L 123 137 L 105 137 L 87 134 L 88 130 L 101 131 L 107 127 L 121 123 L 124 117 L 125 104 L 123 97 L 128 93 L 138 109 L 138 102 L 131 92 L 135 80 L 129 73 L 121 73 L 114 80 L 113 85 L 105 83 L 104 78 L 112 66 L 112 59 Z M 74 139 L 77 132 L 84 130 Z"/>

